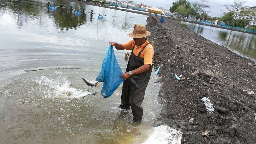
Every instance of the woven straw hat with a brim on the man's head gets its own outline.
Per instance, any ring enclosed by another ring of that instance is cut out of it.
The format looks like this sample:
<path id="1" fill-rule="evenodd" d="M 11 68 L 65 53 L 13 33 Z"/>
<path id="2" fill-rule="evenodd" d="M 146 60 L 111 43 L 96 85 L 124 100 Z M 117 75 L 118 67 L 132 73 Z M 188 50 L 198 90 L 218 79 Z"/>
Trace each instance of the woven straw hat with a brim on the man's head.
<path id="1" fill-rule="evenodd" d="M 133 32 L 128 34 L 128 36 L 132 38 L 143 38 L 148 35 L 150 35 L 150 32 L 147 31 L 147 27 L 142 24 L 135 24 Z"/>

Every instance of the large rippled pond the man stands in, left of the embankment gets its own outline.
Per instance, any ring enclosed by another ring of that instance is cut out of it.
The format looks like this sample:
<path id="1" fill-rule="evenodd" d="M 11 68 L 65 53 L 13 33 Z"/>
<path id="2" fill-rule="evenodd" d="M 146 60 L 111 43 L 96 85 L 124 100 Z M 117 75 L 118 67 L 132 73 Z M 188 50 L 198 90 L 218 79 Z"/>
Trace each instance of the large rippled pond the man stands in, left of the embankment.
<path id="1" fill-rule="evenodd" d="M 2 143 L 142 143 L 153 130 L 158 104 L 158 77 L 151 75 L 142 103 L 142 123 L 132 122 L 131 110 L 119 109 L 122 85 L 104 99 L 102 84 L 93 80 L 109 41 L 124 43 L 135 23 L 146 24 L 135 13 L 101 8 L 103 17 L 75 15 L 68 9 L 47 9 L 46 0 L 0 0 L 0 139 Z M 54 5 L 78 7 L 55 0 Z M 81 3 L 81 9 L 99 7 Z M 126 16 L 126 17 L 125 17 Z M 115 54 L 125 71 L 126 51 Z M 71 96 L 97 91 L 81 100 Z"/>

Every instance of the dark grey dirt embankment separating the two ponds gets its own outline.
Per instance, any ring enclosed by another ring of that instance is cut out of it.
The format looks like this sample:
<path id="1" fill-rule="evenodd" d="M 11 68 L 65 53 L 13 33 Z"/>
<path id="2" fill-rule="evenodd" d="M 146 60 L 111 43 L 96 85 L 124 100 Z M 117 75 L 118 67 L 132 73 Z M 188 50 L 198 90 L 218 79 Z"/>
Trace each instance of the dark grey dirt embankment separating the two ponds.
<path id="1" fill-rule="evenodd" d="M 148 23 L 147 29 L 154 67 L 163 64 L 158 75 L 164 108 L 155 125 L 181 129 L 182 143 L 256 143 L 256 64 L 170 19 Z M 227 111 L 208 113 L 203 97 Z"/>

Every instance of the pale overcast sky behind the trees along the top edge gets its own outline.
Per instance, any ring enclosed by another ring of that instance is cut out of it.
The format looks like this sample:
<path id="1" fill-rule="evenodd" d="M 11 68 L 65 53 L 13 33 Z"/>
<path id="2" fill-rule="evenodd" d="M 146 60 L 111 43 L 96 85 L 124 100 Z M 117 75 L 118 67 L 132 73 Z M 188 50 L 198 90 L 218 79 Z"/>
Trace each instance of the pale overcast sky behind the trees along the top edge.
<path id="1" fill-rule="evenodd" d="M 138 4 L 143 4 L 144 0 L 135 0 Z M 153 7 L 163 7 L 165 9 L 169 9 L 170 6 L 177 0 L 145 0 L 145 5 L 153 6 Z M 191 4 L 195 2 L 201 2 L 200 0 L 187 0 Z M 245 6 L 256 6 L 256 0 L 246 0 Z M 211 17 L 219 17 L 222 15 L 220 10 L 226 11 L 225 7 L 223 6 L 223 2 L 227 4 L 231 4 L 232 0 L 209 0 L 207 5 L 212 6 L 211 9 L 205 9 L 206 11 L 210 11 L 208 14 Z"/>

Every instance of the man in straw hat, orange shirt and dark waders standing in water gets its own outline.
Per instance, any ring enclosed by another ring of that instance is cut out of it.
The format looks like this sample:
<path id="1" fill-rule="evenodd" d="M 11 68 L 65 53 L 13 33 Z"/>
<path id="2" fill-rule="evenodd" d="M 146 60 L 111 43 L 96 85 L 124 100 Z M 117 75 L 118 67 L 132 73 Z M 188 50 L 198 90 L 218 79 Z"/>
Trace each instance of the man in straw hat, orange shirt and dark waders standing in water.
<path id="1" fill-rule="evenodd" d="M 141 103 L 152 71 L 154 50 L 147 41 L 146 36 L 148 35 L 150 32 L 147 31 L 146 26 L 135 24 L 133 32 L 128 34 L 133 40 L 123 44 L 109 42 L 118 50 L 131 50 L 126 72 L 121 75 L 125 81 L 123 82 L 120 107 L 122 109 L 131 107 L 134 122 L 142 120 L 143 107 Z"/>

